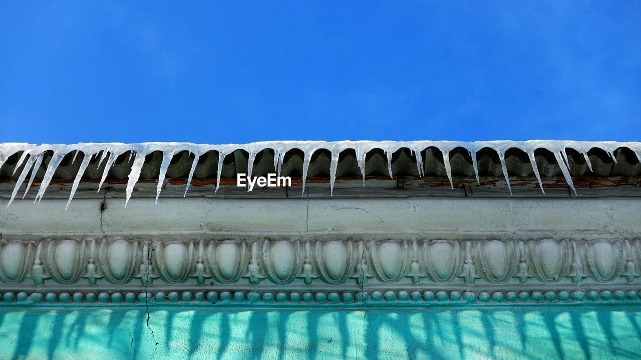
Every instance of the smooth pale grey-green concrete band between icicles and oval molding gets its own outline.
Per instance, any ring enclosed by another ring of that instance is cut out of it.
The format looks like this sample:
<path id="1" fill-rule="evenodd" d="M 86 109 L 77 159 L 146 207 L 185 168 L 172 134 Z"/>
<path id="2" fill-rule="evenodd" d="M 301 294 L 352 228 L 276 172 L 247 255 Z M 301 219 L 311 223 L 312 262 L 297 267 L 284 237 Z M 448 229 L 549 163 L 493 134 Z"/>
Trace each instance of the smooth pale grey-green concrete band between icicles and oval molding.
<path id="1" fill-rule="evenodd" d="M 3 234 L 638 233 L 636 198 L 0 200 Z"/>

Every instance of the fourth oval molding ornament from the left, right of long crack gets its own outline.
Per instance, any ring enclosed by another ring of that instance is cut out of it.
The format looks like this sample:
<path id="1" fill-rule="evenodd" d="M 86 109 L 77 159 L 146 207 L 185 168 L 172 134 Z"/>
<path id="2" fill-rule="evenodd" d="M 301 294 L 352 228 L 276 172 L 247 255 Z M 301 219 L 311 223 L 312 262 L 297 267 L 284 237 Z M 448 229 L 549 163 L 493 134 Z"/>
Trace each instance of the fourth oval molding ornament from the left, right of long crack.
<path id="1" fill-rule="evenodd" d="M 182 241 L 158 241 L 154 245 L 160 277 L 173 284 L 187 280 L 194 265 L 194 242 L 189 241 L 185 245 Z"/>

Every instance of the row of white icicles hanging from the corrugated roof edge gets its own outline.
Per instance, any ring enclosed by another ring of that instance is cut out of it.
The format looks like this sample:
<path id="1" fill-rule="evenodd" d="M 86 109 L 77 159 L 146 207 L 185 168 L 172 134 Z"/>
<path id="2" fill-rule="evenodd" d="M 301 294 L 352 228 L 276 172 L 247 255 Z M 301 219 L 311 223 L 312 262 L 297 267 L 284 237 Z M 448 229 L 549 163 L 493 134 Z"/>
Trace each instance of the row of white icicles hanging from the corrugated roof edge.
<path id="1" fill-rule="evenodd" d="M 69 207 L 69 204 L 71 203 L 71 199 L 74 197 L 74 194 L 76 193 L 76 189 L 78 188 L 78 184 L 87 166 L 89 165 L 91 159 L 94 156 L 100 155 L 100 160 L 98 161 L 98 165 L 97 165 L 98 167 L 100 167 L 101 164 L 104 161 L 106 161 L 106 166 L 104 167 L 103 176 L 98 186 L 98 191 L 100 191 L 100 188 L 103 185 L 104 180 L 106 179 L 109 169 L 112 167 L 116 158 L 121 154 L 124 154 L 125 152 L 131 151 L 129 155 L 129 161 L 131 161 L 131 156 L 134 153 L 135 153 L 135 158 L 133 160 L 133 165 L 131 166 L 131 172 L 129 173 L 129 176 L 128 176 L 129 179 L 127 183 L 127 195 L 125 200 L 125 208 L 126 208 L 129 202 L 129 198 L 131 197 L 131 193 L 133 192 L 133 187 L 137 183 L 138 177 L 140 176 L 140 170 L 142 169 L 142 165 L 144 165 L 145 157 L 147 156 L 147 154 L 150 154 L 151 152 L 154 152 L 154 151 L 161 151 L 163 153 L 163 160 L 162 160 L 162 164 L 160 165 L 160 175 L 158 176 L 158 188 L 156 189 L 156 203 L 157 203 L 158 196 L 160 195 L 160 191 L 162 190 L 163 182 L 165 179 L 165 173 L 167 172 L 167 168 L 169 167 L 171 158 L 175 154 L 178 154 L 178 152 L 181 152 L 181 151 L 188 151 L 194 154 L 195 156 L 194 161 L 192 163 L 191 170 L 189 172 L 189 177 L 187 179 L 185 195 L 187 195 L 187 190 L 189 190 L 189 184 L 192 181 L 194 170 L 196 169 L 196 165 L 198 164 L 199 157 L 202 154 L 212 150 L 219 152 L 218 173 L 217 173 L 217 180 L 216 180 L 216 190 L 218 190 L 220 181 L 221 181 L 222 162 L 226 155 L 231 154 L 233 151 L 236 151 L 238 149 L 247 151 L 249 153 L 249 161 L 247 163 L 247 177 L 251 177 L 251 171 L 253 168 L 254 158 L 256 157 L 256 154 L 263 151 L 264 149 L 272 149 L 274 151 L 274 168 L 277 169 L 278 176 L 280 176 L 281 165 L 283 164 L 283 156 L 285 155 L 285 153 L 287 153 L 292 149 L 299 149 L 303 151 L 304 152 L 303 193 L 305 192 L 305 180 L 307 177 L 307 170 L 310 165 L 310 160 L 312 159 L 313 153 L 319 149 L 327 149 L 328 151 L 331 152 L 329 183 L 331 187 L 330 191 L 331 193 L 333 193 L 334 182 L 336 179 L 336 168 L 338 165 L 338 155 L 340 154 L 340 152 L 346 149 L 353 149 L 356 152 L 356 160 L 358 161 L 358 167 L 360 168 L 361 173 L 363 174 L 363 185 L 364 185 L 365 184 L 365 156 L 367 152 L 372 151 L 373 149 L 382 149 L 383 151 L 385 151 L 385 154 L 387 155 L 388 171 L 390 173 L 390 177 L 392 177 L 393 176 L 392 153 L 394 153 L 395 151 L 403 147 L 410 149 L 413 152 L 413 154 L 415 154 L 416 165 L 418 168 L 419 176 L 424 175 L 423 161 L 422 161 L 422 156 L 420 152 L 428 147 L 436 147 L 437 149 L 439 149 L 443 154 L 445 172 L 447 173 L 447 177 L 449 179 L 449 183 L 452 188 L 453 188 L 452 174 L 451 174 L 451 169 L 449 165 L 450 151 L 452 151 L 456 147 L 463 147 L 464 149 L 467 149 L 467 151 L 469 152 L 472 158 L 472 167 L 474 167 L 474 174 L 476 174 L 476 181 L 479 182 L 478 167 L 476 166 L 476 152 L 478 152 L 480 149 L 483 149 L 484 147 L 489 147 L 491 149 L 494 149 L 499 155 L 499 160 L 501 161 L 501 168 L 503 168 L 503 175 L 505 177 L 506 183 L 508 184 L 508 190 L 510 191 L 510 193 L 512 193 L 512 186 L 510 186 L 510 179 L 508 177 L 508 171 L 505 165 L 505 152 L 510 148 L 520 149 L 526 152 L 526 154 L 528 154 L 528 158 L 534 170 L 534 174 L 535 176 L 537 176 L 538 184 L 542 192 L 544 192 L 543 184 L 541 182 L 540 174 L 538 173 L 537 162 L 535 161 L 535 156 L 534 156 L 534 151 L 536 149 L 540 149 L 540 148 L 547 149 L 548 151 L 554 154 L 554 157 L 556 158 L 556 161 L 559 167 L 561 168 L 563 176 L 565 177 L 565 181 L 567 181 L 567 184 L 570 186 L 570 188 L 572 188 L 572 191 L 574 191 L 575 195 L 576 195 L 576 190 L 574 189 L 574 184 L 572 183 L 572 178 L 570 177 L 570 172 L 568 167 L 569 162 L 567 158 L 566 149 L 570 148 L 578 152 L 581 152 L 581 154 L 585 156 L 585 161 L 588 165 L 588 168 L 590 168 L 590 171 L 592 170 L 592 164 L 590 163 L 590 159 L 588 158 L 587 152 L 592 148 L 603 149 L 608 154 L 610 154 L 610 156 L 612 156 L 612 159 L 616 162 L 617 160 L 615 159 L 614 151 L 619 147 L 628 147 L 629 149 L 634 151 L 635 154 L 637 154 L 637 158 L 639 159 L 639 161 L 641 161 L 641 142 L 576 142 L 576 141 L 560 141 L 560 140 L 531 140 L 526 142 L 513 142 L 513 141 L 506 141 L 506 140 L 491 141 L 491 142 L 281 141 L 281 142 L 254 142 L 254 143 L 247 143 L 244 145 L 236 145 L 236 144 L 204 145 L 204 144 L 195 144 L 195 143 L 174 143 L 174 142 L 167 142 L 167 143 L 148 142 L 148 143 L 133 143 L 133 144 L 78 143 L 75 145 L 63 145 L 63 144 L 32 145 L 28 143 L 0 143 L 0 167 L 2 167 L 4 161 L 6 161 L 8 156 L 11 156 L 16 152 L 22 151 L 21 157 L 14 168 L 14 172 L 15 170 L 17 170 L 17 168 L 21 167 L 24 161 L 26 161 L 26 163 L 24 165 L 24 168 L 22 168 L 22 172 L 15 184 L 15 188 L 13 189 L 11 199 L 7 204 L 7 206 L 9 206 L 15 199 L 15 196 L 17 195 L 17 193 L 19 192 L 22 186 L 22 183 L 24 183 L 26 179 L 26 176 L 29 174 L 29 172 L 31 172 L 31 176 L 29 177 L 26 190 L 22 195 L 22 198 L 24 199 L 24 196 L 29 191 L 31 184 L 33 183 L 33 179 L 35 178 L 35 174 L 37 172 L 36 170 L 42 164 L 42 160 L 44 158 L 45 152 L 53 151 L 53 157 L 51 158 L 51 160 L 49 160 L 49 163 L 47 165 L 47 170 L 44 174 L 44 177 L 42 178 L 42 182 L 40 183 L 40 188 L 38 189 L 38 193 L 34 200 L 34 202 L 40 202 L 40 200 L 44 196 L 47 186 L 49 186 L 49 183 L 53 178 L 53 174 L 56 171 L 56 168 L 58 167 L 58 165 L 60 165 L 60 162 L 62 161 L 64 156 L 69 152 L 74 151 L 75 153 L 74 153 L 73 161 L 75 161 L 76 156 L 78 156 L 78 152 L 80 151 L 83 152 L 85 156 L 78 169 L 78 174 L 76 174 L 76 178 L 74 179 L 74 183 L 71 188 L 71 195 L 69 195 L 69 200 L 67 201 L 67 206 L 65 207 L 66 209 L 67 207 Z M 34 171 L 31 171 L 32 168 L 34 169 Z"/>

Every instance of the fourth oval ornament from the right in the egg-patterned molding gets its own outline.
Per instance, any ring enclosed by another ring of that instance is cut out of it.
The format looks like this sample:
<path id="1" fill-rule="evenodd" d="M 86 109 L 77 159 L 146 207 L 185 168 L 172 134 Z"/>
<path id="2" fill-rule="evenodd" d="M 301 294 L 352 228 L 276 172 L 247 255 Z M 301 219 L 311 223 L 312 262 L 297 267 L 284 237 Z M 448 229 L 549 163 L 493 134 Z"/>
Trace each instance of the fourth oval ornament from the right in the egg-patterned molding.
<path id="1" fill-rule="evenodd" d="M 429 279 L 435 282 L 451 282 L 454 280 L 461 259 L 458 241 L 425 241 L 422 247 L 422 254 Z"/>

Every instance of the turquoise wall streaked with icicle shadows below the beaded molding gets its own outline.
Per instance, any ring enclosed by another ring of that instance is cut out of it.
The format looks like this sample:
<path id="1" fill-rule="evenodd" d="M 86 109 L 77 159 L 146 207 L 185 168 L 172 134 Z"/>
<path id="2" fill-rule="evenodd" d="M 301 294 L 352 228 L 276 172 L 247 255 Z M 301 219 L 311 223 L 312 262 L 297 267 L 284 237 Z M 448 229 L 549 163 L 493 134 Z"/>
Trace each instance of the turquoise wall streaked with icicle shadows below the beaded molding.
<path id="1" fill-rule="evenodd" d="M 638 307 L 0 310 L 2 359 L 639 359 Z"/>

